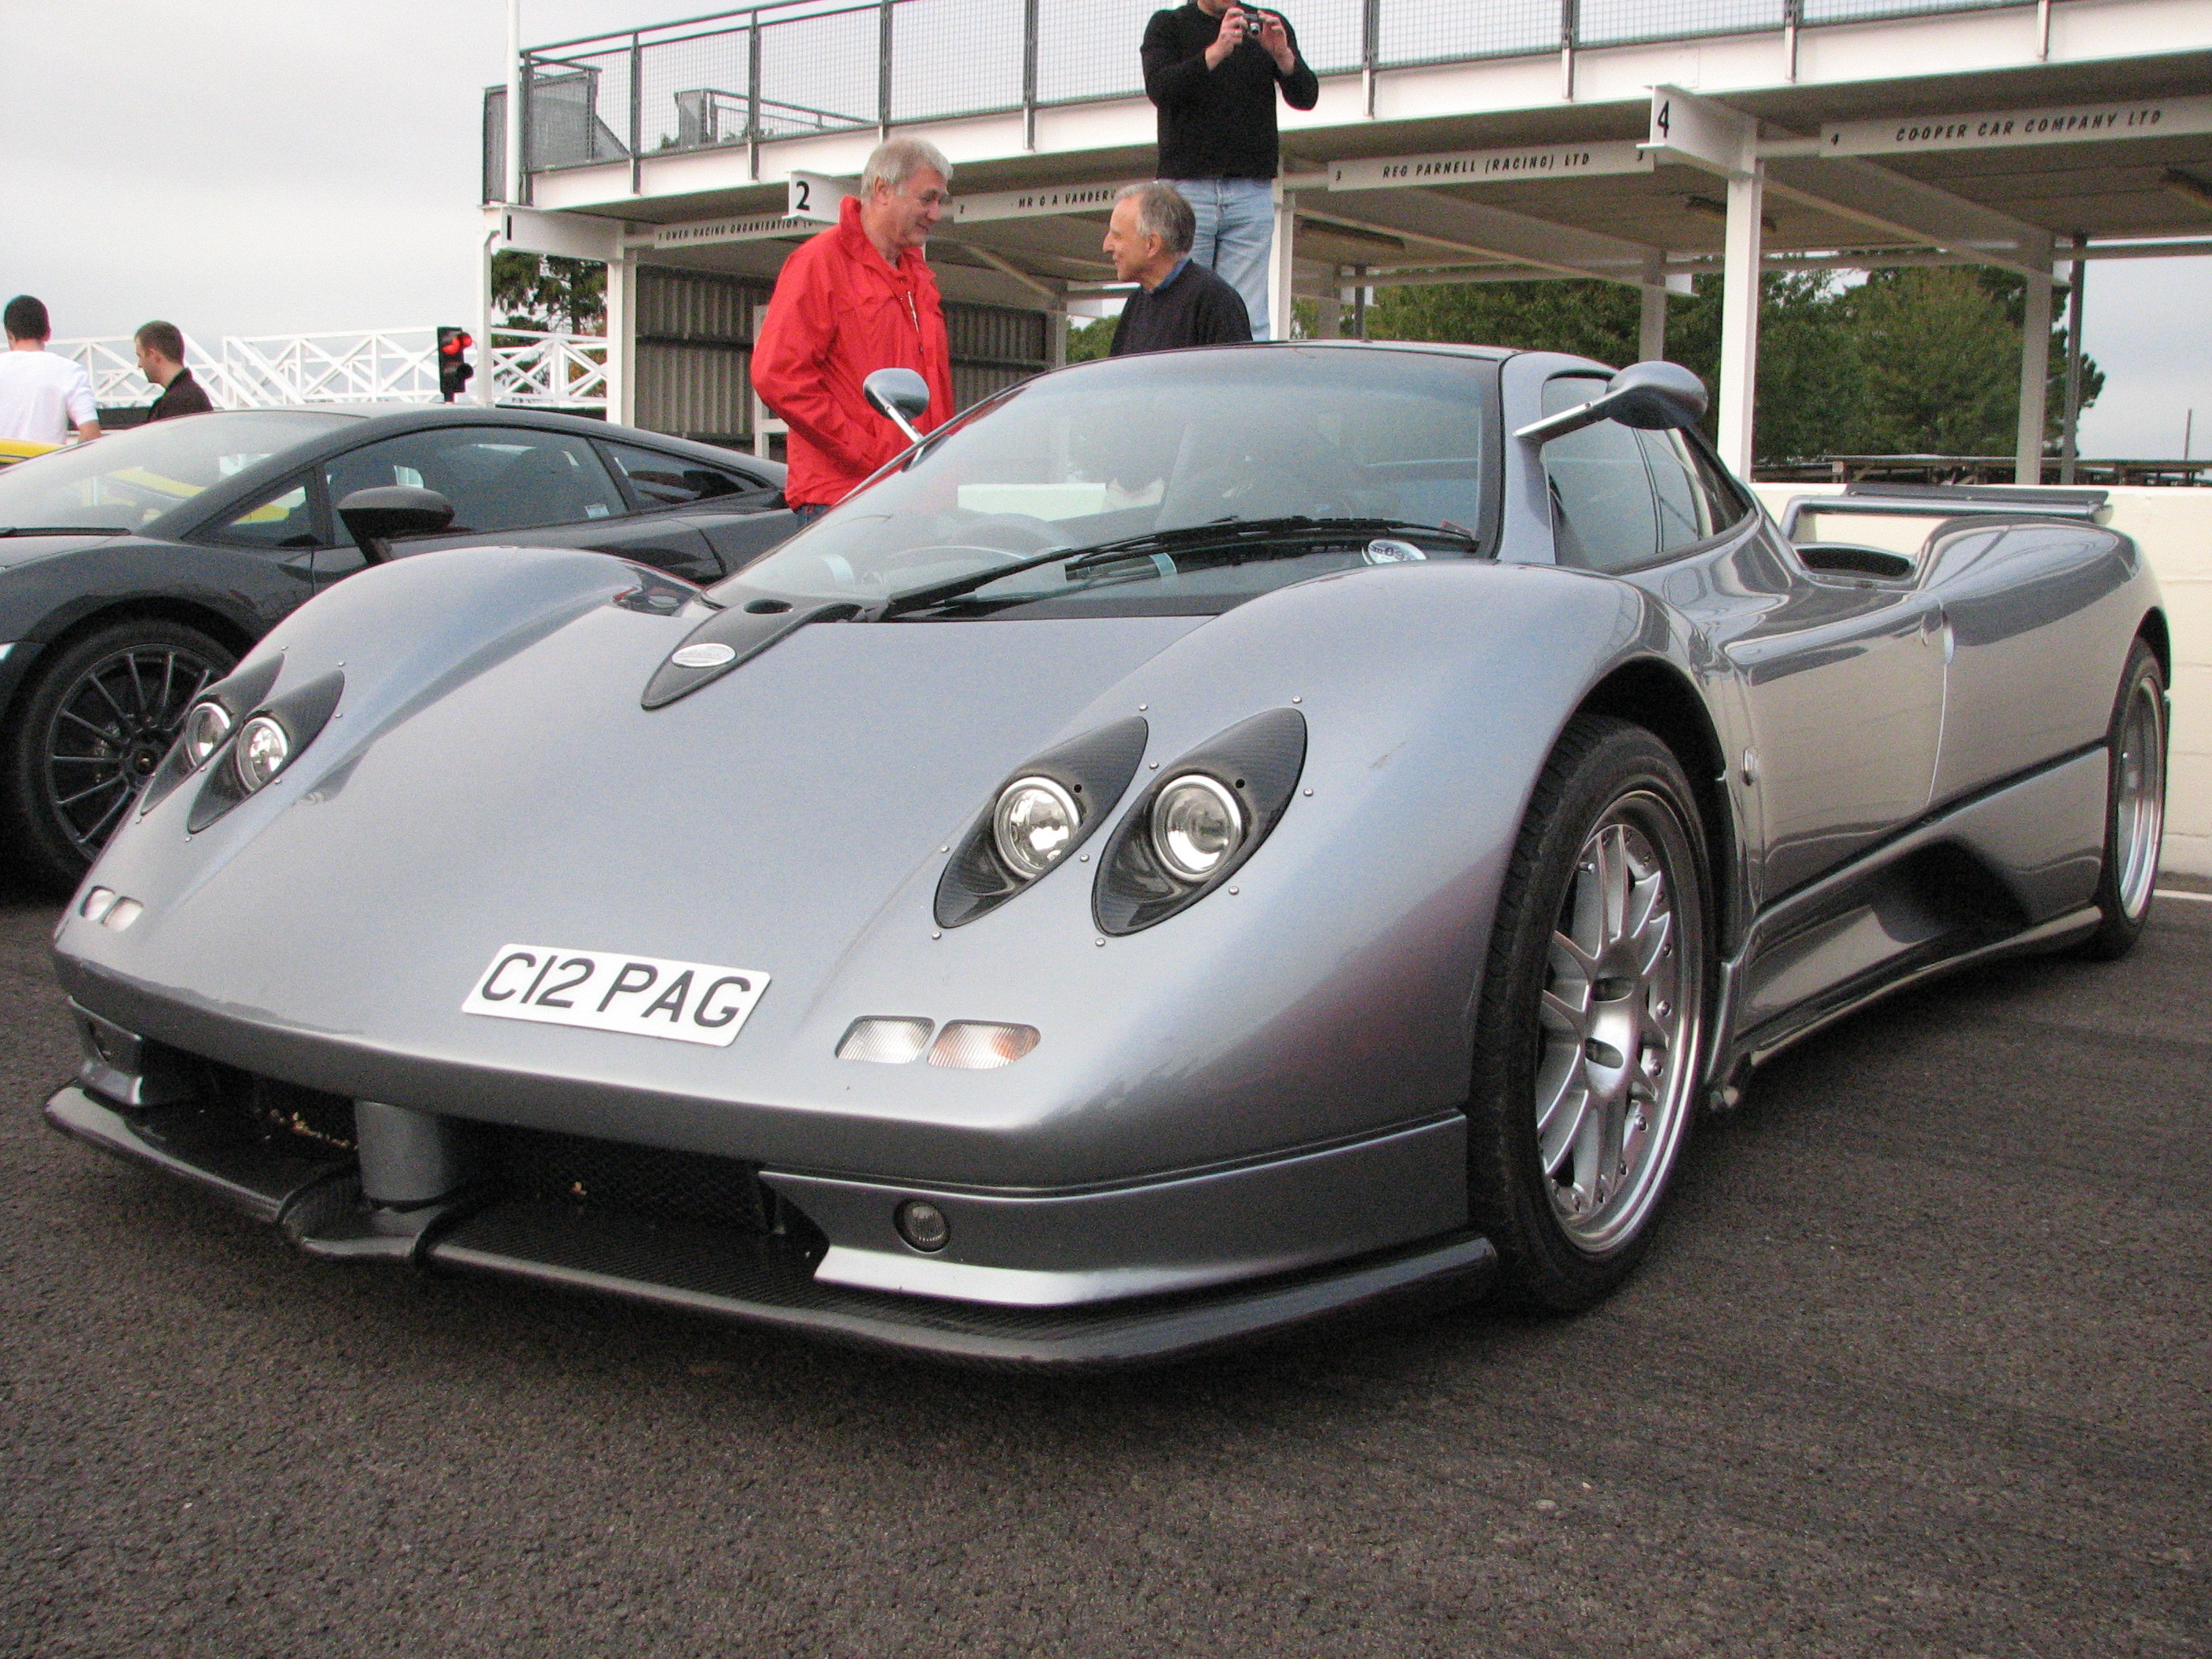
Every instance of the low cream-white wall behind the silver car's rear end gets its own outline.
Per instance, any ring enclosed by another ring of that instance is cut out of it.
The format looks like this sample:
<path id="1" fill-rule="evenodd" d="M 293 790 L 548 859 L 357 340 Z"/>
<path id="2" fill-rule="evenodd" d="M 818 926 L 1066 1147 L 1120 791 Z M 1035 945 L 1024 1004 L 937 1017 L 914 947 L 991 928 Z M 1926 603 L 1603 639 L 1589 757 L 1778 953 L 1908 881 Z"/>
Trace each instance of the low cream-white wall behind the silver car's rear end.
<path id="1" fill-rule="evenodd" d="M 1754 484 L 1774 518 L 1792 495 L 1836 495 L 1836 484 Z M 2166 783 L 2168 874 L 2212 880 L 2212 489 L 2106 491 L 2101 522 L 2126 531 L 2143 549 L 2166 591 L 2166 622 L 2174 635 L 2174 730 Z M 1851 520 L 1849 531 L 1823 533 L 1871 546 L 1913 551 L 1927 540 L 1920 520 Z"/>

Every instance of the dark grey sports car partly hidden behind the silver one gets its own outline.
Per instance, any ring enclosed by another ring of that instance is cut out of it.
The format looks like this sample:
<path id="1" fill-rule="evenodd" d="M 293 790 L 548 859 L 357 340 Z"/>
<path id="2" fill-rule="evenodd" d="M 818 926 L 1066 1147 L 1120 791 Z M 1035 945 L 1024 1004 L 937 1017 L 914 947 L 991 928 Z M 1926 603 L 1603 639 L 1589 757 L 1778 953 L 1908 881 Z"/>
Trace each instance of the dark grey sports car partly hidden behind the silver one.
<path id="1" fill-rule="evenodd" d="M 515 409 L 259 409 L 164 420 L 0 473 L 0 836 L 73 885 L 199 692 L 361 568 L 338 502 L 427 487 L 407 551 L 526 533 L 688 582 L 790 535 L 783 467 Z"/>

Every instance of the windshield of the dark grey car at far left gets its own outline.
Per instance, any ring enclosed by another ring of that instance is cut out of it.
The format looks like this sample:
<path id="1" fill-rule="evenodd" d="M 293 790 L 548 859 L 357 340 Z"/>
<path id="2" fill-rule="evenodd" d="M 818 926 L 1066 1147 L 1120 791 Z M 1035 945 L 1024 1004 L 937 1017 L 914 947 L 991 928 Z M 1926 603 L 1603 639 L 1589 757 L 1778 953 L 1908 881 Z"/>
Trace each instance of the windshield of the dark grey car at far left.
<path id="1" fill-rule="evenodd" d="M 0 529 L 135 531 L 210 484 L 358 416 L 241 409 L 157 420 L 0 473 Z"/>

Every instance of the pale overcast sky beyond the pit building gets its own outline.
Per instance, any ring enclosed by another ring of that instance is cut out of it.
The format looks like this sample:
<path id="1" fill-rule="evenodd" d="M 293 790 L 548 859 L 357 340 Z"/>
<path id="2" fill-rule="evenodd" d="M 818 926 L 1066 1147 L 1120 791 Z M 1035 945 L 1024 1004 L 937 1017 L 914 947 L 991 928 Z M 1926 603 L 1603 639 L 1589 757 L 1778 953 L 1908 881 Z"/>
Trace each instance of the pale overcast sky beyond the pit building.
<path id="1" fill-rule="evenodd" d="M 524 40 L 692 0 L 524 0 Z M 1292 15 L 1294 0 L 1292 0 Z M 60 336 L 201 341 L 476 316 L 482 86 L 507 0 L 0 0 L 0 290 Z M 2212 451 L 2212 259 L 2090 268 L 2086 453 Z"/>

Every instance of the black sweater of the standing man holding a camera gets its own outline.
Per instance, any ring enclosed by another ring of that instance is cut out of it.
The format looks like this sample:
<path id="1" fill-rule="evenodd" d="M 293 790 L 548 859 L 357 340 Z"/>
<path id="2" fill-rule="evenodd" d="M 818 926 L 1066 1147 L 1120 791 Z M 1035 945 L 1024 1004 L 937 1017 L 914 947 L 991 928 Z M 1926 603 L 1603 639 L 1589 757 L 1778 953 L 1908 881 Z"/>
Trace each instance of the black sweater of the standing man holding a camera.
<path id="1" fill-rule="evenodd" d="M 1155 11 L 1144 27 L 1144 93 L 1159 106 L 1161 179 L 1272 179 L 1279 170 L 1274 137 L 1274 88 L 1292 108 L 1321 102 L 1321 82 L 1298 55 L 1298 33 L 1290 35 L 1292 71 L 1248 33 L 1243 44 L 1206 66 L 1206 49 L 1221 33 L 1221 18 L 1181 4 Z"/>

